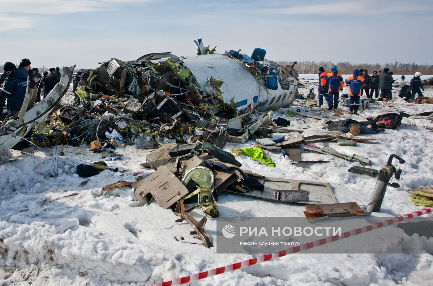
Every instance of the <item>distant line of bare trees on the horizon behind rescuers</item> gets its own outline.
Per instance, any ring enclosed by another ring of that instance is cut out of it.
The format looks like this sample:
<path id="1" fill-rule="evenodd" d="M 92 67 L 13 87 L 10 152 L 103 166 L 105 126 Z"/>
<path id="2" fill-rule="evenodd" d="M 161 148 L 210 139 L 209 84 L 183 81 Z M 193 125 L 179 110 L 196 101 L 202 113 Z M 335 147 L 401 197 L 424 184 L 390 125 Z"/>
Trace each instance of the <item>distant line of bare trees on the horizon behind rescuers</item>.
<path id="1" fill-rule="evenodd" d="M 292 62 L 278 61 L 278 64 L 291 65 Z M 373 71 L 383 71 L 385 67 L 388 67 L 394 74 L 415 74 L 417 71 L 421 74 L 433 74 L 433 64 L 403 64 L 397 61 L 385 64 L 352 64 L 349 61 L 340 61 L 338 63 L 332 61 L 298 61 L 295 65 L 295 70 L 300 74 L 317 74 L 319 67 L 324 67 L 326 72 L 330 72 L 334 64 L 338 67 L 340 74 L 352 74 L 355 68 L 367 69 L 368 74 L 372 74 Z"/>

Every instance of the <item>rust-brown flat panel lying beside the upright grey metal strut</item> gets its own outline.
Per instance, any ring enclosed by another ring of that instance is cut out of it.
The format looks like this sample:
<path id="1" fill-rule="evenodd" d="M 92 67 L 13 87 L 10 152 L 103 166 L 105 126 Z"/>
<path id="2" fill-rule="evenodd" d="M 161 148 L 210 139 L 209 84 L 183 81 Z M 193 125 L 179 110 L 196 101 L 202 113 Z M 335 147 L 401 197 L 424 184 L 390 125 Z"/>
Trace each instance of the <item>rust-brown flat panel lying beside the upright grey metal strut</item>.
<path id="1" fill-rule="evenodd" d="M 356 202 L 341 202 L 323 205 L 305 206 L 304 215 L 307 218 L 323 218 L 323 217 L 348 217 L 358 215 L 371 215 L 371 212 L 365 212 Z"/>

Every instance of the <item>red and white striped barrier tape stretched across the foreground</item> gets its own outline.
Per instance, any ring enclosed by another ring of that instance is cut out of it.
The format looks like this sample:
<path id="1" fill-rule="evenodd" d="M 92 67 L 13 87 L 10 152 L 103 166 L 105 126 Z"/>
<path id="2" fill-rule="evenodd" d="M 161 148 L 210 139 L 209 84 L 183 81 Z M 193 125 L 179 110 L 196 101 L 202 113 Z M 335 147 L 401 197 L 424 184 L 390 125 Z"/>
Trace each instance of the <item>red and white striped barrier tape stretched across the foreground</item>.
<path id="1" fill-rule="evenodd" d="M 181 284 L 185 284 L 185 283 L 190 283 L 190 282 L 201 280 L 201 279 L 204 279 L 204 278 L 207 278 L 210 276 L 215 276 L 215 275 L 222 274 L 225 272 L 230 272 L 230 271 L 241 269 L 241 268 L 248 267 L 251 265 L 259 264 L 261 262 L 269 261 L 269 260 L 272 260 L 274 258 L 283 257 L 283 256 L 288 255 L 288 254 L 307 250 L 307 249 L 310 249 L 310 248 L 313 248 L 316 246 L 320 246 L 320 245 L 323 245 L 326 243 L 330 243 L 330 242 L 337 241 L 340 239 L 348 238 L 348 237 L 351 237 L 354 235 L 359 235 L 359 234 L 367 232 L 367 231 L 372 231 L 373 229 L 376 229 L 376 228 L 382 228 L 382 227 L 385 227 L 388 225 L 392 225 L 396 222 L 402 222 L 404 220 L 412 219 L 412 218 L 415 218 L 415 217 L 420 216 L 420 215 L 425 215 L 425 214 L 430 213 L 432 211 L 433 211 L 433 208 L 426 208 L 426 209 L 422 209 L 420 211 L 408 213 L 405 215 L 396 216 L 392 219 L 386 219 L 383 222 L 376 222 L 372 225 L 366 225 L 362 228 L 355 228 L 355 229 L 352 229 L 351 231 L 343 232 L 341 235 L 328 236 L 326 238 L 318 239 L 318 240 L 313 241 L 313 242 L 304 243 L 304 244 L 301 244 L 298 246 L 288 248 L 286 250 L 278 251 L 278 252 L 271 253 L 271 254 L 265 254 L 265 255 L 262 255 L 262 256 L 259 256 L 256 258 L 244 260 L 242 262 L 237 262 L 235 264 L 230 264 L 227 266 L 218 267 L 218 268 L 215 268 L 212 270 L 196 273 L 193 275 L 184 276 L 182 278 L 177 278 L 177 279 L 174 279 L 171 281 L 158 283 L 158 284 L 155 284 L 154 286 L 176 286 L 176 285 L 181 285 Z"/>

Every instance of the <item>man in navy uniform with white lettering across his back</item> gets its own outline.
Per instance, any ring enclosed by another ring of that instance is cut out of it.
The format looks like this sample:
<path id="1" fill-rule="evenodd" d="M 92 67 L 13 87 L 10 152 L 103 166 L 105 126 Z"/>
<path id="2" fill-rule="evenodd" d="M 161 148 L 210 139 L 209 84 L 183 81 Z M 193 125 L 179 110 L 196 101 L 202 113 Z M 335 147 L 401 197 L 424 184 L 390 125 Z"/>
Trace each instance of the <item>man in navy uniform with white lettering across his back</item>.
<path id="1" fill-rule="evenodd" d="M 7 112 L 19 111 L 23 106 L 24 97 L 27 92 L 27 77 L 29 77 L 30 60 L 23 58 L 18 68 L 10 72 L 0 89 L 0 94 L 7 98 Z M 40 79 L 35 78 L 35 82 Z"/>

